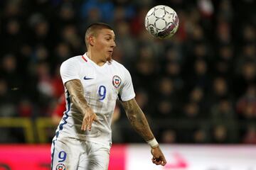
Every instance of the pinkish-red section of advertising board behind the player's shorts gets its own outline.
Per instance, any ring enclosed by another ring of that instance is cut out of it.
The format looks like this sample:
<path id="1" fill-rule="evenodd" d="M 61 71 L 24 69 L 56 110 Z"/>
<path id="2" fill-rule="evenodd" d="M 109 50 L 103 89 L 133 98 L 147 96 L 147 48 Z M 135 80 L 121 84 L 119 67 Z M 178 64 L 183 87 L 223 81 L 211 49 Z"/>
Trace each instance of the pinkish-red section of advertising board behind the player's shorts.
<path id="1" fill-rule="evenodd" d="M 125 151 L 126 145 L 112 146 L 110 169 L 125 169 Z M 0 170 L 32 169 L 50 169 L 50 145 L 0 145 Z"/>

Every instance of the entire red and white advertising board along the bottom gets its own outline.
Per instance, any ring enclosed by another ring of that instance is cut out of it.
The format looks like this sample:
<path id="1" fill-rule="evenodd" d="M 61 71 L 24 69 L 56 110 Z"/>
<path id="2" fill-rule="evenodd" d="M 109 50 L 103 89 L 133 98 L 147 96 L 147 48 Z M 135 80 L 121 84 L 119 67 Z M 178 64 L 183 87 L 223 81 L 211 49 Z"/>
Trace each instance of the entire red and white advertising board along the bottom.
<path id="1" fill-rule="evenodd" d="M 109 170 L 256 170 L 255 145 L 161 145 L 166 166 L 147 145 L 113 145 Z M 0 145 L 0 170 L 49 170 L 50 145 Z"/>

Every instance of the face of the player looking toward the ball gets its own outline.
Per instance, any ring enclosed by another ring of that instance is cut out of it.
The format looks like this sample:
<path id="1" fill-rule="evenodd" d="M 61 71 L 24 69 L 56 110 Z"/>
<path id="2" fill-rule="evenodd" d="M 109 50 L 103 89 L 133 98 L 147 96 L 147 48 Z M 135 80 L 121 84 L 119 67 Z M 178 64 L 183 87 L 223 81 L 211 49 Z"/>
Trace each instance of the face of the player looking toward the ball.
<path id="1" fill-rule="evenodd" d="M 116 46 L 114 42 L 114 31 L 109 29 L 101 29 L 95 38 L 95 48 L 100 52 L 102 60 L 107 62 L 112 59 L 112 53 Z"/>

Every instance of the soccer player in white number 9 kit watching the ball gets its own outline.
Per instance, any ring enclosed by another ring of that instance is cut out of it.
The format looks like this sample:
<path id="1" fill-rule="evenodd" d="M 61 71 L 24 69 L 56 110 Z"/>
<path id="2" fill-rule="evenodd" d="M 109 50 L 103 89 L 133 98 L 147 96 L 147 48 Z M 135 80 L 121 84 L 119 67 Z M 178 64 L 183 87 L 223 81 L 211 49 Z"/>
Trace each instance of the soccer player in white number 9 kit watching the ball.
<path id="1" fill-rule="evenodd" d="M 51 147 L 52 169 L 105 170 L 112 145 L 111 120 L 117 98 L 132 127 L 151 146 L 152 162 L 166 159 L 134 97 L 132 78 L 122 64 L 112 60 L 114 31 L 93 23 L 85 33 L 87 52 L 63 62 L 65 111 Z"/>

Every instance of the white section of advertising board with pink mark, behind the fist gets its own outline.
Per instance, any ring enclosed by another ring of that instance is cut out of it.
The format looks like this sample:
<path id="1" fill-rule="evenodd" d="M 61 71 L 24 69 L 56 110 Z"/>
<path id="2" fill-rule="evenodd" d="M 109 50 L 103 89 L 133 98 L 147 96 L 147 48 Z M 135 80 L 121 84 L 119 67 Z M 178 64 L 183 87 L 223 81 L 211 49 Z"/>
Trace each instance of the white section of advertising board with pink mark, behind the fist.
<path id="1" fill-rule="evenodd" d="M 256 170 L 256 145 L 161 145 L 166 166 L 150 164 L 149 147 L 127 149 L 126 170 Z"/>

